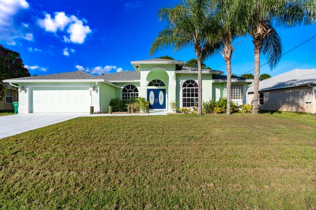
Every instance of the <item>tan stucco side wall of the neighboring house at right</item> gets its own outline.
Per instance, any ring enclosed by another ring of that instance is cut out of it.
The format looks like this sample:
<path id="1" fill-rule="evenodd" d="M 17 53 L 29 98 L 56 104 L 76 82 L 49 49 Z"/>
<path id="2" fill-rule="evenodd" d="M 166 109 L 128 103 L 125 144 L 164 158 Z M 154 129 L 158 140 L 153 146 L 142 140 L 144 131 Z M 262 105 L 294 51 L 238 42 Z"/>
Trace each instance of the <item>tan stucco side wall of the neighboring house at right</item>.
<path id="1" fill-rule="evenodd" d="M 264 104 L 259 105 L 259 110 L 275 110 L 287 112 L 308 112 L 306 99 L 313 101 L 313 89 L 308 86 L 259 91 L 264 93 Z M 253 103 L 253 93 L 248 94 L 248 103 Z M 313 106 L 310 103 L 310 113 L 312 113 Z M 316 106 L 314 107 L 316 111 Z"/>

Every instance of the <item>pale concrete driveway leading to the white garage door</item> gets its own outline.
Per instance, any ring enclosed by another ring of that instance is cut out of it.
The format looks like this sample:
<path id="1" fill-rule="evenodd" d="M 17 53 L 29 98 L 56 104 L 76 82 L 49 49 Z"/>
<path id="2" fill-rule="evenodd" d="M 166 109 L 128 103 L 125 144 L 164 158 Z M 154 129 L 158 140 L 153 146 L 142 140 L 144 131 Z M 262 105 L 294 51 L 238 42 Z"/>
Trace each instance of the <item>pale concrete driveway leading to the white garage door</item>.
<path id="1" fill-rule="evenodd" d="M 58 122 L 89 116 L 86 113 L 17 114 L 0 117 L 0 139 Z"/>

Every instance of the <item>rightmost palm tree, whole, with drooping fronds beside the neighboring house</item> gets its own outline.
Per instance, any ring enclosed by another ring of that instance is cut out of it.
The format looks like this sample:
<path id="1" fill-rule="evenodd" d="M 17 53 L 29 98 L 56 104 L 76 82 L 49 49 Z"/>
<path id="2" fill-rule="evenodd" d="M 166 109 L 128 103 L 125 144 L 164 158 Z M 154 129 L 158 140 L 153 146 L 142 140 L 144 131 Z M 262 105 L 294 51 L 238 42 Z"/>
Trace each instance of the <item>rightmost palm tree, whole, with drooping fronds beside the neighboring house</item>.
<path id="1" fill-rule="evenodd" d="M 260 75 L 260 53 L 268 58 L 270 68 L 274 68 L 282 55 L 281 39 L 276 26 L 293 27 L 305 21 L 315 21 L 315 0 L 246 0 L 248 8 L 248 33 L 254 44 L 254 95 L 253 114 L 258 114 L 258 90 Z M 311 9 L 307 11 L 307 5 Z M 310 16 L 305 17 L 306 14 Z"/>

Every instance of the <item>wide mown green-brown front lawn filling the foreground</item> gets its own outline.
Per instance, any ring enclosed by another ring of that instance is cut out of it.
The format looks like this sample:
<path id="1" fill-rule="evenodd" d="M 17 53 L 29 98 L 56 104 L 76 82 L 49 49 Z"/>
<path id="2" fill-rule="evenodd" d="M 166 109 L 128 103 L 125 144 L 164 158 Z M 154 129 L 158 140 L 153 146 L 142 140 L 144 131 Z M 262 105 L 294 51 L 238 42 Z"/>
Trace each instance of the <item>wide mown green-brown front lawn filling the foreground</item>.
<path id="1" fill-rule="evenodd" d="M 316 116 L 77 118 L 0 140 L 1 209 L 316 209 Z"/>

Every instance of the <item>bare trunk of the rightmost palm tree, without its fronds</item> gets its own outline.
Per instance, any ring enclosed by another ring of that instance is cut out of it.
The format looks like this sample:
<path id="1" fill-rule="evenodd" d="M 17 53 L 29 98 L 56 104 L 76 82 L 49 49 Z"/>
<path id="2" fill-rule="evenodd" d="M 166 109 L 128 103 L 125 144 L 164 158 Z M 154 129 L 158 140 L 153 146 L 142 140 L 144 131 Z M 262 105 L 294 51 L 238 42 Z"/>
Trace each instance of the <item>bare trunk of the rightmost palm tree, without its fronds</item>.
<path id="1" fill-rule="evenodd" d="M 254 54 L 255 54 L 255 67 L 254 67 L 254 91 L 253 91 L 253 114 L 258 114 L 258 99 L 259 99 L 259 75 L 260 75 L 260 51 L 261 41 L 254 40 Z"/>

